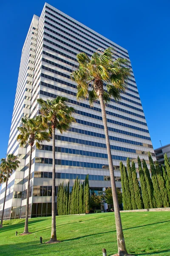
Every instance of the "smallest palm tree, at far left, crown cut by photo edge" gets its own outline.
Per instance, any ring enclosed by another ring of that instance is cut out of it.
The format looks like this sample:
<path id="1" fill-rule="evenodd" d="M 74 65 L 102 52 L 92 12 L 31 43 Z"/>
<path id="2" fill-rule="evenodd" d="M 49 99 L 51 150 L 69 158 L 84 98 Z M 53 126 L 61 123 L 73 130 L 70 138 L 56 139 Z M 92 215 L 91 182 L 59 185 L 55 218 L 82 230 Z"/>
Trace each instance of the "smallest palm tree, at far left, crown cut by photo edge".
<path id="1" fill-rule="evenodd" d="M 0 228 L 3 227 L 3 214 L 4 214 L 4 208 L 5 208 L 5 201 L 6 201 L 6 190 L 8 185 L 8 179 L 11 176 L 13 171 L 16 171 L 16 169 L 19 167 L 20 161 L 17 160 L 17 156 L 14 154 L 8 154 L 6 158 L 2 158 L 0 163 L 0 184 L 3 182 L 6 182 L 6 189 L 5 189 L 5 196 L 4 196 L 4 202 L 3 202 L 3 211 L 2 211 L 2 217 L 0 221 Z"/>

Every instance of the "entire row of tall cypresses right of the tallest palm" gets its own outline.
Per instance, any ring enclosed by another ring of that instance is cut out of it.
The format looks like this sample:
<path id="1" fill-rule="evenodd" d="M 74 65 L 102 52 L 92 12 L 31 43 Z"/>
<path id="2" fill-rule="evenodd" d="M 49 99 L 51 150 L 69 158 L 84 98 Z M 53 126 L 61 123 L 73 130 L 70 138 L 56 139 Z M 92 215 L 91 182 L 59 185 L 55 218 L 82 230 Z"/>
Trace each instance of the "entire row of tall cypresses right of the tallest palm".
<path id="1" fill-rule="evenodd" d="M 165 154 L 165 167 L 159 166 L 158 161 L 155 165 L 153 159 L 148 153 L 150 171 L 146 161 L 142 162 L 138 156 L 138 169 L 141 183 L 141 192 L 136 174 L 135 163 L 127 158 L 127 167 L 120 163 L 123 208 L 130 209 L 148 209 L 170 206 L 170 160 Z"/>

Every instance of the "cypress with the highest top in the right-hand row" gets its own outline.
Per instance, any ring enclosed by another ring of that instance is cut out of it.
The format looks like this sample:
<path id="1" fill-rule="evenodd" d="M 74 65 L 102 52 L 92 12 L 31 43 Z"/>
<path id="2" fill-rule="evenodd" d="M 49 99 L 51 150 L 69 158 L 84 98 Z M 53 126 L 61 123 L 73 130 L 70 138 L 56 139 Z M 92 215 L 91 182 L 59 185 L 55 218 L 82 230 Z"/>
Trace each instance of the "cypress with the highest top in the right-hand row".
<path id="1" fill-rule="evenodd" d="M 150 171 L 152 174 L 152 183 L 153 183 L 153 189 L 154 189 L 154 198 L 155 198 L 155 202 L 156 202 L 156 207 L 162 207 L 163 206 L 163 202 L 162 202 L 162 198 L 161 198 L 161 192 L 160 192 L 160 188 L 159 188 L 159 183 L 158 183 L 158 179 L 156 177 L 156 169 L 153 163 L 153 159 L 150 155 L 150 152 L 148 152 L 148 156 L 149 156 L 149 163 L 150 163 Z"/>

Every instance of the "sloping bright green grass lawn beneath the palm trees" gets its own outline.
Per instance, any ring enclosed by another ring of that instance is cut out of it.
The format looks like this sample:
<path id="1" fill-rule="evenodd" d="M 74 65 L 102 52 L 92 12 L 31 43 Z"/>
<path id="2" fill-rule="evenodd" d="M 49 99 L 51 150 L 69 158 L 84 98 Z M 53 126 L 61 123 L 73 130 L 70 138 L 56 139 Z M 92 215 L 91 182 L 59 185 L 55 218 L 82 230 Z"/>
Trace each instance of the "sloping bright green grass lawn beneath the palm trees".
<path id="1" fill-rule="evenodd" d="M 128 212 L 121 217 L 129 253 L 170 256 L 170 212 Z M 30 219 L 32 233 L 27 236 L 15 236 L 16 231 L 23 233 L 24 220 L 4 221 L 7 223 L 0 229 L 2 256 L 102 256 L 102 248 L 108 256 L 117 252 L 112 212 L 57 216 L 59 244 L 44 244 L 51 236 L 51 217 Z"/>

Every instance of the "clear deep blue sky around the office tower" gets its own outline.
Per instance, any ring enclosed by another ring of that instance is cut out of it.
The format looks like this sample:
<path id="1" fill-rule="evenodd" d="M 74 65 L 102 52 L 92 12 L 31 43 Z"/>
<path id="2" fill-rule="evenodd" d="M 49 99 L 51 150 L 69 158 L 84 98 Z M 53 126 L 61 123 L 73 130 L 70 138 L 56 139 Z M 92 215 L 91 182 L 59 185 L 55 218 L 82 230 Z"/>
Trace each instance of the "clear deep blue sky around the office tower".
<path id="1" fill-rule="evenodd" d="M 2 0 L 0 158 L 5 157 L 21 50 L 43 0 Z M 86 0 L 49 4 L 128 50 L 153 147 L 170 143 L 170 1 Z"/>

